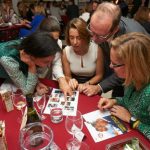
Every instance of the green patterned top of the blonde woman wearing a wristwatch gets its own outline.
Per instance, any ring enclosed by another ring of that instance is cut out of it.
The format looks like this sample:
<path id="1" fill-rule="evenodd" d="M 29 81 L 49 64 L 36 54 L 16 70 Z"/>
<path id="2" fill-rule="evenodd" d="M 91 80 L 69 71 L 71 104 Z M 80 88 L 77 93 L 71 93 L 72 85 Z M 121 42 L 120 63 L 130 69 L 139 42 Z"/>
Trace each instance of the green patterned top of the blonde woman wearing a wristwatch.
<path id="1" fill-rule="evenodd" d="M 139 91 L 129 86 L 124 97 L 116 100 L 117 104 L 127 108 L 131 115 L 140 120 L 138 130 L 150 139 L 150 83 Z"/>

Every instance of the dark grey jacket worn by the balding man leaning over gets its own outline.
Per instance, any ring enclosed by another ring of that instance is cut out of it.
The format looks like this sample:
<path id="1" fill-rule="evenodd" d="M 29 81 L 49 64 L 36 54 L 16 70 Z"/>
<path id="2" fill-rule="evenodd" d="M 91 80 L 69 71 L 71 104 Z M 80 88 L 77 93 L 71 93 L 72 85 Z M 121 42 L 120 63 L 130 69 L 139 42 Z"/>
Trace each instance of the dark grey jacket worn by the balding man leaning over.
<path id="1" fill-rule="evenodd" d="M 129 33 L 129 32 L 141 32 L 149 35 L 146 30 L 135 20 L 121 17 L 119 24 L 119 31 L 115 34 L 115 37 Z M 108 42 L 103 42 L 99 44 L 102 48 L 104 55 L 104 80 L 99 83 L 102 87 L 103 92 L 108 92 L 109 90 L 114 91 L 113 96 L 122 96 L 123 94 L 123 79 L 117 77 L 117 75 L 110 69 L 110 46 Z"/>

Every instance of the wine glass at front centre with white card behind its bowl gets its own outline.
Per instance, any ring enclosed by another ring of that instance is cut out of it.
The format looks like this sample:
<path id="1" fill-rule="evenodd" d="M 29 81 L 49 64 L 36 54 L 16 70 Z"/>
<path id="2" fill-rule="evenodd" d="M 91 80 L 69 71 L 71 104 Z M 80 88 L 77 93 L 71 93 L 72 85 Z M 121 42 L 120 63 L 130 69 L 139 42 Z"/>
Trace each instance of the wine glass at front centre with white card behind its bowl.
<path id="1" fill-rule="evenodd" d="M 76 116 L 66 117 L 65 128 L 69 134 L 73 135 L 73 138 L 66 144 L 67 149 L 79 149 L 81 142 L 75 138 L 75 134 L 83 128 L 83 117 L 80 111 L 77 111 Z"/>

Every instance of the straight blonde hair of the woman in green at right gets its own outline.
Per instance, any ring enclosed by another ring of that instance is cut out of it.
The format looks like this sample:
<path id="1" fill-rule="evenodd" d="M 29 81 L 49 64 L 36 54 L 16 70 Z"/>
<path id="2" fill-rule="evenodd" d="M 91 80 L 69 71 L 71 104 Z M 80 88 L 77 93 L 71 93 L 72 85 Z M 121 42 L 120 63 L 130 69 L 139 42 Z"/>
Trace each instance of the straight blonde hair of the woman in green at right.
<path id="1" fill-rule="evenodd" d="M 150 82 L 150 37 L 132 32 L 114 39 L 111 45 L 125 64 L 125 86 L 133 84 L 140 90 Z"/>

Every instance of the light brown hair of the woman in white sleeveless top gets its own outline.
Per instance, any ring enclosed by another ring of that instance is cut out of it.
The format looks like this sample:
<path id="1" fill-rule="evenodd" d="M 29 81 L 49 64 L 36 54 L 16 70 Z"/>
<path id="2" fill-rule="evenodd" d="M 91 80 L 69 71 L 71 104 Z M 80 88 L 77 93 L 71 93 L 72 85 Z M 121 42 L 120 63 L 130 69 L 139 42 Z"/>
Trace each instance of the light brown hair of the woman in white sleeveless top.
<path id="1" fill-rule="evenodd" d="M 67 28 L 66 28 L 65 39 L 66 39 L 67 45 L 71 45 L 70 39 L 69 39 L 69 30 L 71 28 L 77 29 L 77 31 L 79 32 L 80 38 L 85 40 L 87 43 L 89 43 L 91 36 L 88 30 L 86 29 L 86 27 L 87 27 L 87 24 L 83 19 L 81 18 L 72 19 L 68 23 Z"/>

